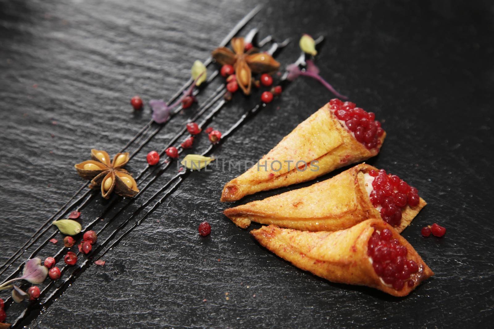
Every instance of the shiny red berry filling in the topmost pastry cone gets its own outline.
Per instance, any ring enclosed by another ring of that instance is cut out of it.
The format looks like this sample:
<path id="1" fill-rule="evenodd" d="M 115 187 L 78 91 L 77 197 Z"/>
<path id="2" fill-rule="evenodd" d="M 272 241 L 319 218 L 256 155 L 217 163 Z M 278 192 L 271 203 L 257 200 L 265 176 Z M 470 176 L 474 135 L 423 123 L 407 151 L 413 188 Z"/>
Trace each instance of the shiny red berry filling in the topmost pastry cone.
<path id="1" fill-rule="evenodd" d="M 357 108 L 355 103 L 342 102 L 337 98 L 330 100 L 329 105 L 331 112 L 359 143 L 367 149 L 381 144 L 379 137 L 384 134 L 384 129 L 381 128 L 379 121 L 374 120 L 374 113 Z"/>

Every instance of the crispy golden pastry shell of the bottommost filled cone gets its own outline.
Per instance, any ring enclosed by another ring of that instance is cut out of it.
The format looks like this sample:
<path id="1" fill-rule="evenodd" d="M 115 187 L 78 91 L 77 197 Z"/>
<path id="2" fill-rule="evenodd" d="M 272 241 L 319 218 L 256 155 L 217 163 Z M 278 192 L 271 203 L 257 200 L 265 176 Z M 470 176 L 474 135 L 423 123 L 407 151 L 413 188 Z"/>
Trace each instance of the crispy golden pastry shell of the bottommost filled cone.
<path id="1" fill-rule="evenodd" d="M 374 230 L 385 228 L 391 230 L 392 239 L 398 239 L 407 248 L 407 259 L 418 265 L 418 272 L 410 277 L 414 281 L 412 287 L 405 284 L 401 290 L 395 290 L 385 284 L 372 267 L 368 242 Z M 420 282 L 434 275 L 408 241 L 380 219 L 368 219 L 336 232 L 306 232 L 269 225 L 250 233 L 271 252 L 331 282 L 368 286 L 393 296 L 406 296 Z"/>

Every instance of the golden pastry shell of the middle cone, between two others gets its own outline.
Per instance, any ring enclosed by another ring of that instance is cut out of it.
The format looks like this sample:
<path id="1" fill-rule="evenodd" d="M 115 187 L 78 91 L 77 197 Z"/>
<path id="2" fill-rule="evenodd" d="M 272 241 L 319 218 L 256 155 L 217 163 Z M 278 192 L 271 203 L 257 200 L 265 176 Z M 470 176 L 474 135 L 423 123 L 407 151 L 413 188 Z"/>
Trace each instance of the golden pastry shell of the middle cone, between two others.
<path id="1" fill-rule="evenodd" d="M 337 231 L 366 219 L 380 219 L 364 182 L 364 174 L 371 170 L 378 171 L 359 164 L 324 182 L 229 208 L 223 213 L 242 228 L 255 221 L 304 231 Z M 420 198 L 415 207 L 404 207 L 401 223 L 395 229 L 402 232 L 425 205 Z"/>

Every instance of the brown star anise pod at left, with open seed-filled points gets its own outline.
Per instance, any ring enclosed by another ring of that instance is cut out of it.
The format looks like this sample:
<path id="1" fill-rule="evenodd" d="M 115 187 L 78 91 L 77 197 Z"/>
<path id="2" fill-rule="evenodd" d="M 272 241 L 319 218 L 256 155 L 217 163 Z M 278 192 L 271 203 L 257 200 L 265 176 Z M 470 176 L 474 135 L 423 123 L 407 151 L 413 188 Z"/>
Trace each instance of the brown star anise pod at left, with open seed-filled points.
<path id="1" fill-rule="evenodd" d="M 91 159 L 75 165 L 82 178 L 91 180 L 89 188 L 100 188 L 105 199 L 108 199 L 113 191 L 128 197 L 133 197 L 139 192 L 135 180 L 123 169 L 129 160 L 128 152 L 117 153 L 110 162 L 107 152 L 93 148 Z"/>

